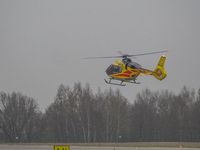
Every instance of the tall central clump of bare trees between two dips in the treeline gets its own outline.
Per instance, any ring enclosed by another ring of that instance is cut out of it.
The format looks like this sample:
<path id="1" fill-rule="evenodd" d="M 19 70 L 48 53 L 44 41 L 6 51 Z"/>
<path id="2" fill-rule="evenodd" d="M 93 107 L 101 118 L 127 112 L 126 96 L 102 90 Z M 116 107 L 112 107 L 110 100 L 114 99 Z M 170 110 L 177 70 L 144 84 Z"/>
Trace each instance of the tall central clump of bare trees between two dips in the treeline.
<path id="1" fill-rule="evenodd" d="M 60 85 L 46 111 L 48 128 L 54 135 L 51 142 L 118 141 L 130 124 L 131 106 L 119 90 L 94 95 L 87 84 L 73 89 Z M 128 133 L 129 134 L 129 133 Z"/>

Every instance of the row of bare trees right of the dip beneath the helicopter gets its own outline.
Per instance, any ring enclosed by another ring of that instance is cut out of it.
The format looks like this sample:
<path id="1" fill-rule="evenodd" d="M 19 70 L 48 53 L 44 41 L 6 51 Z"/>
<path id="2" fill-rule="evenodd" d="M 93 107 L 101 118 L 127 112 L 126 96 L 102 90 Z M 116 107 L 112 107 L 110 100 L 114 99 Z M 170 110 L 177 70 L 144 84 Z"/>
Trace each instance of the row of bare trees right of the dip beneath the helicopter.
<path id="1" fill-rule="evenodd" d="M 137 95 L 132 106 L 133 141 L 200 141 L 200 89 L 171 92 L 151 92 L 146 89 Z"/>

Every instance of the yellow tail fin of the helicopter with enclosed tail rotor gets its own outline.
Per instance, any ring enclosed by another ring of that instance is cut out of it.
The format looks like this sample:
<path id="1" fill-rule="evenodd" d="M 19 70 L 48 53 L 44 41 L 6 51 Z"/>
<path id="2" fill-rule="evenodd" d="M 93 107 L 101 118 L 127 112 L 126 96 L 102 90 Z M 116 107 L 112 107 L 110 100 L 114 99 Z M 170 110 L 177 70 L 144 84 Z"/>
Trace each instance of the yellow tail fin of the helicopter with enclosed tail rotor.
<path id="1" fill-rule="evenodd" d="M 167 76 L 167 73 L 164 69 L 165 59 L 166 59 L 166 57 L 165 57 L 165 55 L 163 55 L 160 58 L 160 61 L 158 62 L 156 69 L 154 70 L 153 75 L 158 80 L 163 80 Z"/>

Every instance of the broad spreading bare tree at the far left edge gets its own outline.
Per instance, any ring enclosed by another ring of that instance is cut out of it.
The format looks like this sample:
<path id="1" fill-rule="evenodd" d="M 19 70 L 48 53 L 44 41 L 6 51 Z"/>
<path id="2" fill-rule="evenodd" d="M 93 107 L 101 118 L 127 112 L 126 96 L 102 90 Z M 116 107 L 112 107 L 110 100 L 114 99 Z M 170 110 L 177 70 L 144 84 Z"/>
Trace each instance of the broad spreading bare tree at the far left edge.
<path id="1" fill-rule="evenodd" d="M 0 93 L 0 129 L 10 142 L 31 141 L 38 106 L 21 93 Z"/>

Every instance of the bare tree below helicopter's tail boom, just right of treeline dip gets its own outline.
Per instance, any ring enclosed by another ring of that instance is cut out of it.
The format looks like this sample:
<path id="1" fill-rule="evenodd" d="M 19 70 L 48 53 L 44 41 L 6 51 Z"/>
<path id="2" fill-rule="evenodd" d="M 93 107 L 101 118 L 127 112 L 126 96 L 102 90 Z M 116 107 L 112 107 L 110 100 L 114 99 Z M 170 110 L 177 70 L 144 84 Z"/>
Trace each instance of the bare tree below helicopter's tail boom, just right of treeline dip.
<path id="1" fill-rule="evenodd" d="M 133 106 L 132 119 L 136 141 L 153 141 L 157 130 L 158 101 L 155 94 L 145 89 L 137 95 Z"/>

